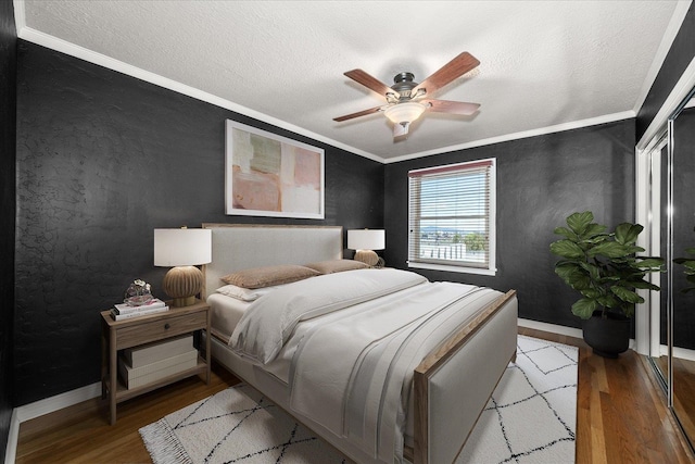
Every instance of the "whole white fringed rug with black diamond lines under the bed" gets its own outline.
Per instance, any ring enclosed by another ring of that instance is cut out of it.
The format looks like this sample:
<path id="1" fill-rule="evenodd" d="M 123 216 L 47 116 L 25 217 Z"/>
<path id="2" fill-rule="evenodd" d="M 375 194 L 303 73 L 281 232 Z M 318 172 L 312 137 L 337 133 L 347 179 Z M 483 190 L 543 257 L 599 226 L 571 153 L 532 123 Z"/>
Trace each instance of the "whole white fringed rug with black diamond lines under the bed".
<path id="1" fill-rule="evenodd" d="M 456 464 L 574 462 L 578 349 L 518 337 L 509 364 Z M 247 385 L 140 429 L 164 463 L 349 463 Z"/>

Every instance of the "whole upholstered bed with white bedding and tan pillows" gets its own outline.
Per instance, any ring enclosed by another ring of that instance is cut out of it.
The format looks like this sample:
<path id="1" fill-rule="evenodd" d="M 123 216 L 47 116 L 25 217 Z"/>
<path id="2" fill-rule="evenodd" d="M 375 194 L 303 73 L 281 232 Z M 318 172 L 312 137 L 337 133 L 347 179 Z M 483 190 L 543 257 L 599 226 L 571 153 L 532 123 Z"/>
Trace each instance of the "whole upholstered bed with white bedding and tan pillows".
<path id="1" fill-rule="evenodd" d="M 203 227 L 217 362 L 355 462 L 455 460 L 515 360 L 514 290 L 352 268 L 342 227 Z M 316 274 L 247 288 L 269 266 Z"/>

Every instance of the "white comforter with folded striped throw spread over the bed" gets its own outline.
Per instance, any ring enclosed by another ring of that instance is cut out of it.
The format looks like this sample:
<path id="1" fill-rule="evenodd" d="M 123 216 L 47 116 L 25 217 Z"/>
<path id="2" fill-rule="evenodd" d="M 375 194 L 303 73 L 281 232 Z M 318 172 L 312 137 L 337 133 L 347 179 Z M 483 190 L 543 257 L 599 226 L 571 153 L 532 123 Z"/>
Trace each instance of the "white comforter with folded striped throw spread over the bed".
<path id="1" fill-rule="evenodd" d="M 291 409 L 375 461 L 400 461 L 414 368 L 501 294 L 399 269 L 330 274 L 258 299 L 229 344 L 267 364 L 302 334 L 291 341 Z"/>

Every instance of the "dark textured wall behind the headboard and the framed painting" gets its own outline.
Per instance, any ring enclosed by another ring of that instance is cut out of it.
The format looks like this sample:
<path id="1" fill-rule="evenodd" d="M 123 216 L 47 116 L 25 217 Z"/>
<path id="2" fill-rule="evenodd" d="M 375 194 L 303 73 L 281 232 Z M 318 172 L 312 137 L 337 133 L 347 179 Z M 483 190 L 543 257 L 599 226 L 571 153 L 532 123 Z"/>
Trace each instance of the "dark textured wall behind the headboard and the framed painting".
<path id="1" fill-rule="evenodd" d="M 156 227 L 383 224 L 382 164 L 22 40 L 17 114 L 17 405 L 99 381 L 99 312 L 163 297 Z M 326 150 L 325 221 L 224 214 L 227 118 Z"/>

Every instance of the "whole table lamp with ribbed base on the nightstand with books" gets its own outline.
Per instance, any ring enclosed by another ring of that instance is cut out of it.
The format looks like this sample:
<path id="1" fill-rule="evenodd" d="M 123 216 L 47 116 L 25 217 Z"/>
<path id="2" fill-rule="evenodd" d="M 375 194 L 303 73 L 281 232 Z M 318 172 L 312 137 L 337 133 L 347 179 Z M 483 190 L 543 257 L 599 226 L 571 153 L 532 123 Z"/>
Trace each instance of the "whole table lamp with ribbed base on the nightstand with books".
<path id="1" fill-rule="evenodd" d="M 195 267 L 212 262 L 210 229 L 154 229 L 154 265 L 172 267 L 162 289 L 175 308 L 189 306 L 203 287 L 203 273 Z"/>

